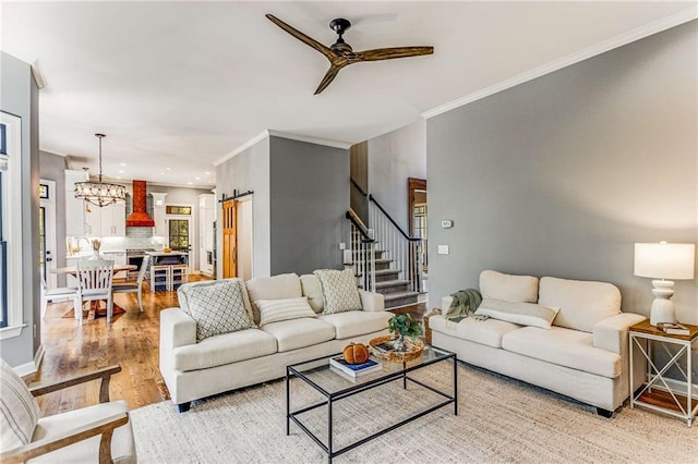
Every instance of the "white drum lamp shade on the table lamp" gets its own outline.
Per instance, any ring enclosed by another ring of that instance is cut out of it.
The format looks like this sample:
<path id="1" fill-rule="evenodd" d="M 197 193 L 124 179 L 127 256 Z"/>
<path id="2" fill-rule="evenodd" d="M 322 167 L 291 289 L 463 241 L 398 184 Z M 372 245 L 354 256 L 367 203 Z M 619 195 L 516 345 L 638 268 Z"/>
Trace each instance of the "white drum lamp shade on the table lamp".
<path id="1" fill-rule="evenodd" d="M 653 279 L 693 279 L 696 245 L 693 243 L 636 243 L 635 276 Z"/>

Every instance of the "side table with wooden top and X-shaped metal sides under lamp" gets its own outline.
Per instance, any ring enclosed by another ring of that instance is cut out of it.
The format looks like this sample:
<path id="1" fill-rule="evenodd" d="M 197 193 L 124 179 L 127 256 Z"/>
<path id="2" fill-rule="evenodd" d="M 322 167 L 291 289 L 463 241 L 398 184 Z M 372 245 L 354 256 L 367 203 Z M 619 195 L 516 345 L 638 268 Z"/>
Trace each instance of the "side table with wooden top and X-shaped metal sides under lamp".
<path id="1" fill-rule="evenodd" d="M 691 366 L 693 347 L 698 342 L 698 326 L 688 323 L 684 326 L 690 331 L 688 335 L 670 335 L 651 326 L 649 320 L 630 326 L 630 408 L 639 405 L 670 414 L 685 419 L 686 425 L 690 427 L 698 413 L 698 395 L 693 389 Z M 677 351 L 672 353 L 670 346 L 674 346 Z M 639 349 L 647 362 L 647 377 L 642 386 L 634 384 L 634 347 Z M 655 347 L 662 349 L 669 358 L 664 365 L 659 365 L 657 356 L 653 356 Z M 685 363 L 682 364 L 681 361 L 684 358 Z M 669 379 L 665 375 L 672 366 L 675 366 L 675 370 L 684 377 L 679 380 L 686 381 L 685 392 L 670 387 L 669 383 L 675 380 Z"/>

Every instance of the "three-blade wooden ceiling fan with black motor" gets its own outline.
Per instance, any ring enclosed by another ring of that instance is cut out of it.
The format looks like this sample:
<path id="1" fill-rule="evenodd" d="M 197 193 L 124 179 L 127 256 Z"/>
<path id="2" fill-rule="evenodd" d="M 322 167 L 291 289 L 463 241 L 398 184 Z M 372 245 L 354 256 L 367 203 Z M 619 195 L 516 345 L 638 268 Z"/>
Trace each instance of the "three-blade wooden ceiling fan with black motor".
<path id="1" fill-rule="evenodd" d="M 364 50 L 364 51 L 353 51 L 351 46 L 347 44 L 342 35 L 347 32 L 349 27 L 351 27 L 351 23 L 349 20 L 345 19 L 336 19 L 329 22 L 329 28 L 333 29 L 339 37 L 337 37 L 337 41 L 329 47 L 325 47 L 317 40 L 312 37 L 306 36 L 300 30 L 289 26 L 278 17 L 273 14 L 267 14 L 266 17 L 269 19 L 274 24 L 299 39 L 305 45 L 313 47 L 315 50 L 323 53 L 329 60 L 329 70 L 325 73 L 325 77 L 323 77 L 322 82 L 317 86 L 315 90 L 315 95 L 323 91 L 330 82 L 337 76 L 339 70 L 349 64 L 360 63 L 362 61 L 381 61 L 381 60 L 392 60 L 394 58 L 408 58 L 408 57 L 418 57 L 420 54 L 432 54 L 434 52 L 434 47 L 393 47 L 393 48 L 376 48 L 373 50 Z"/>

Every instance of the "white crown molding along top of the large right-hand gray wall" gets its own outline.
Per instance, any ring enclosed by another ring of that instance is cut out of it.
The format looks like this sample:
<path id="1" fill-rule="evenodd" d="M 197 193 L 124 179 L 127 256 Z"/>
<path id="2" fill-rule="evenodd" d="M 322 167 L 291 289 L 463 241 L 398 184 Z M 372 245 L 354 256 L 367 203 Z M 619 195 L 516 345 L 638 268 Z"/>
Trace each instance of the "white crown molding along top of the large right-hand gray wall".
<path id="1" fill-rule="evenodd" d="M 421 115 L 424 119 L 434 118 L 436 115 L 443 114 L 447 111 L 454 110 L 491 95 L 498 94 L 500 91 L 506 90 L 508 88 L 516 87 L 517 85 L 524 84 L 528 81 L 544 76 L 545 74 L 553 73 L 555 71 L 562 70 L 563 68 L 567 68 L 580 61 L 588 60 L 589 58 L 605 53 L 606 51 L 613 50 L 615 48 L 623 47 L 624 45 L 628 45 L 645 37 L 649 37 L 651 35 L 659 34 L 663 30 L 682 25 L 684 23 L 688 23 L 689 21 L 694 21 L 697 17 L 698 5 L 682 10 L 676 14 L 662 17 L 661 20 L 637 27 L 633 30 L 615 36 L 592 47 L 588 47 L 576 53 L 563 57 L 555 61 L 551 61 L 550 63 L 521 73 L 506 81 L 502 81 L 490 87 L 483 88 L 482 90 L 449 101 L 448 103 L 442 105 L 429 111 L 424 111 L 423 113 L 421 113 Z"/>

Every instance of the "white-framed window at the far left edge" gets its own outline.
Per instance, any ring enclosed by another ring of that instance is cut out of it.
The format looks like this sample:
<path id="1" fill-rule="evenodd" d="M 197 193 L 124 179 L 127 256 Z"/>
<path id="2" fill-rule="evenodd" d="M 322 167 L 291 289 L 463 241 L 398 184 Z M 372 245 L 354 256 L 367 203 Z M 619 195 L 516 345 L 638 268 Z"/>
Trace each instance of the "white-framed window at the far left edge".
<path id="1" fill-rule="evenodd" d="M 24 327 L 21 136 L 22 120 L 0 111 L 0 340 Z"/>

